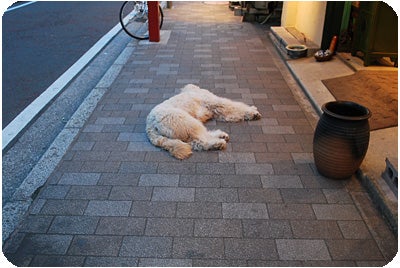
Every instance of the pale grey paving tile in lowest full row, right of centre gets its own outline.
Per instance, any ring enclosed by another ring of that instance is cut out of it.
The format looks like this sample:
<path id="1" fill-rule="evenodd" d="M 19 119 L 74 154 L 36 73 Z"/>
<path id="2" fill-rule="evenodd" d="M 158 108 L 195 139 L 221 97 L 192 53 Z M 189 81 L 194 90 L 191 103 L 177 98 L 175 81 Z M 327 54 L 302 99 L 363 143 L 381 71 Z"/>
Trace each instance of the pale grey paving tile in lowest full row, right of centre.
<path id="1" fill-rule="evenodd" d="M 281 260 L 330 260 L 323 240 L 277 239 L 276 246 Z"/>

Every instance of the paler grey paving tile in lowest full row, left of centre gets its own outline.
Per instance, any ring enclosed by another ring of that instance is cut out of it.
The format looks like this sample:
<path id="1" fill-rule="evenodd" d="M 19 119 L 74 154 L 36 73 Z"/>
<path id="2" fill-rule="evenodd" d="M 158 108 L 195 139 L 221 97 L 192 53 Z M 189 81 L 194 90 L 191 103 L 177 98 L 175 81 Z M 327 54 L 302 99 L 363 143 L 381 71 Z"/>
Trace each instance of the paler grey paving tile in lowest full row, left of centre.
<path id="1" fill-rule="evenodd" d="M 172 254 L 172 237 L 125 236 L 120 256 L 170 258 Z"/>

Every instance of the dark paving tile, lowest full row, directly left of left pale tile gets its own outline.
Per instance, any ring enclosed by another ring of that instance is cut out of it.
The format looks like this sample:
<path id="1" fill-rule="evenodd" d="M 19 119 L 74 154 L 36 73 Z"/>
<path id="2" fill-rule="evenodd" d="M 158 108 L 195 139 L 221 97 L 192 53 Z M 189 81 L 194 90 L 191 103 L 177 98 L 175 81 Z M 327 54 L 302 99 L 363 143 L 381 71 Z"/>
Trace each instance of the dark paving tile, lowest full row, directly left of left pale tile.
<path id="1" fill-rule="evenodd" d="M 77 235 L 68 249 L 70 255 L 117 256 L 120 236 Z"/>

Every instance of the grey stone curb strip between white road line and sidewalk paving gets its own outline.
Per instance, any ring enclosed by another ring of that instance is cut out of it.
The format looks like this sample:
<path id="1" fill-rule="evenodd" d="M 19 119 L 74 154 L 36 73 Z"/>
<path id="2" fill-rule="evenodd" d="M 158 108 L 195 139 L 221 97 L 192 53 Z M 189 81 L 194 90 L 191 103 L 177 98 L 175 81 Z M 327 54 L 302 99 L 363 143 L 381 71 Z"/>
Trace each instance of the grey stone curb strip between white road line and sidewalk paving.
<path id="1" fill-rule="evenodd" d="M 111 84 L 119 75 L 122 67 L 128 61 L 134 51 L 134 47 L 128 43 L 118 58 L 103 75 L 97 85 L 84 99 L 79 108 L 67 122 L 64 129 L 58 134 L 49 149 L 40 158 L 31 172 L 16 189 L 11 200 L 3 206 L 3 230 L 2 242 L 9 238 L 22 221 L 25 213 L 33 202 L 35 193 L 46 183 L 48 177 L 57 167 L 67 149 L 84 126 L 86 120 L 96 108 L 97 103 L 107 92 Z M 100 49 L 101 50 L 101 49 Z M 100 51 L 99 50 L 99 51 Z"/>

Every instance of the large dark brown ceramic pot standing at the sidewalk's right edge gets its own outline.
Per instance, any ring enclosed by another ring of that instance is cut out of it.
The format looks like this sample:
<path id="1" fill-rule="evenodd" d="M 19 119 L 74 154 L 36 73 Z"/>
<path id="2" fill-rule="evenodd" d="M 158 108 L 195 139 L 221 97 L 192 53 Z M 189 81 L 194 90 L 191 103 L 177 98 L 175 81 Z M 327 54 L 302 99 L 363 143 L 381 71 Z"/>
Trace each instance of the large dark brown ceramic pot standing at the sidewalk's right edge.
<path id="1" fill-rule="evenodd" d="M 367 153 L 371 112 L 350 101 L 325 103 L 322 111 L 313 141 L 317 170 L 327 178 L 349 178 Z"/>

